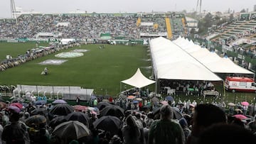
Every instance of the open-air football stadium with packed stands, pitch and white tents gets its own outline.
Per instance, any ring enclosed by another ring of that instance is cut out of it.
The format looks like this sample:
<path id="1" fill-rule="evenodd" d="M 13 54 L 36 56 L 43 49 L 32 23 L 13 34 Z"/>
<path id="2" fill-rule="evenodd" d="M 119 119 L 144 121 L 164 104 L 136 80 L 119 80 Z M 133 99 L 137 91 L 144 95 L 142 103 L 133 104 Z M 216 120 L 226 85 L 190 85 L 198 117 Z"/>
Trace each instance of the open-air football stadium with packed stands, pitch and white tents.
<path id="1" fill-rule="evenodd" d="M 12 18 L 0 19 L 0 109 L 31 115 L 31 105 L 33 111 L 46 109 L 47 120 L 24 121 L 31 128 L 49 123 L 52 143 L 91 143 L 88 135 L 96 129 L 104 130 L 103 139 L 108 133 L 122 137 L 123 123 L 130 124 L 127 113 L 142 131 L 151 128 L 146 113 L 154 115 L 153 121 L 163 111 L 176 111 L 172 117 L 186 119 L 189 126 L 197 104 L 216 106 L 232 123 L 249 127 L 256 110 L 256 11 L 201 13 L 201 1 L 197 5 L 200 11 L 193 13 L 22 13 L 11 0 Z M 250 79 L 250 86 L 238 83 L 250 92 L 225 88 L 226 77 Z M 60 112 L 63 103 L 68 104 Z M 166 105 L 171 110 L 163 110 Z M 64 138 L 68 134 L 57 130 L 70 123 L 64 116 L 74 111 L 87 114 L 86 120 L 79 119 L 86 133 Z M 100 127 L 100 118 L 118 126 Z M 28 133 L 36 143 L 37 137 Z"/>

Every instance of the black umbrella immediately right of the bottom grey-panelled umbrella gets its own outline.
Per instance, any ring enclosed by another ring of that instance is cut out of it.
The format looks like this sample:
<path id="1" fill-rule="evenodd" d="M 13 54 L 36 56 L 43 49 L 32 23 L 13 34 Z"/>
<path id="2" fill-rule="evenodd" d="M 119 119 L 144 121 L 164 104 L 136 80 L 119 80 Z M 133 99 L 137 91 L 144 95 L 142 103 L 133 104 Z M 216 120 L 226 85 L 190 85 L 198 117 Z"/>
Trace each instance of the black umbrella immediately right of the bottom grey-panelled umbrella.
<path id="1" fill-rule="evenodd" d="M 115 116 L 102 116 L 93 123 L 93 126 L 97 129 L 117 134 L 122 126 L 122 122 Z"/>

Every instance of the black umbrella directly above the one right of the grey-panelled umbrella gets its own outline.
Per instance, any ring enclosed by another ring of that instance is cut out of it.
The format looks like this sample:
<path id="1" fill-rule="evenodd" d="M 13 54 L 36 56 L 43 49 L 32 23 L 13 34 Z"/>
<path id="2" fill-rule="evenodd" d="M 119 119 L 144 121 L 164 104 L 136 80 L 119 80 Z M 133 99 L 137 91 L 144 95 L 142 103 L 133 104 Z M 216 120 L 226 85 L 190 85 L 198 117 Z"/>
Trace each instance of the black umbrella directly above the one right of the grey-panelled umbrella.
<path id="1" fill-rule="evenodd" d="M 124 116 L 124 109 L 119 106 L 106 106 L 102 111 L 100 111 L 101 116 Z"/>

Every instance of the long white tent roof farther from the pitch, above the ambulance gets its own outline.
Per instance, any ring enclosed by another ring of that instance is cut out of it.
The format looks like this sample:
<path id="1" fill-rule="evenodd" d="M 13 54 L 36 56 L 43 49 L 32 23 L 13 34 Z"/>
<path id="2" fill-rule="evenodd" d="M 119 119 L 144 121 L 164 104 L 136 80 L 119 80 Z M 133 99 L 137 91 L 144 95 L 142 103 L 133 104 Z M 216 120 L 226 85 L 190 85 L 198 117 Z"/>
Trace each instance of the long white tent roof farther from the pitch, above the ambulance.
<path id="1" fill-rule="evenodd" d="M 234 74 L 254 74 L 250 70 L 246 70 L 239 65 L 236 65 L 232 60 L 227 57 L 220 57 L 215 52 L 210 52 L 206 48 L 201 48 L 199 45 L 189 41 L 188 39 L 179 37 L 173 42 L 181 49 L 188 52 L 189 55 L 194 57 L 198 62 L 201 62 L 211 72 L 214 73 L 234 73 Z"/>

